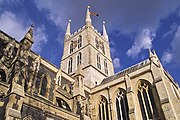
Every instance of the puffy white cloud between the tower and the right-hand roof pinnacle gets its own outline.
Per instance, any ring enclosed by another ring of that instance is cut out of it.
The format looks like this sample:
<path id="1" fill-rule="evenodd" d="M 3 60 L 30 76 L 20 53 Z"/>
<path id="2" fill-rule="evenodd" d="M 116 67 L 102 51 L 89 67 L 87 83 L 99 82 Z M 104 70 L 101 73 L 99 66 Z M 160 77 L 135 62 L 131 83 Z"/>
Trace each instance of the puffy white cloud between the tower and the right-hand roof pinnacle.
<path id="1" fill-rule="evenodd" d="M 152 33 L 149 29 L 143 29 L 137 34 L 134 40 L 134 45 L 126 52 L 128 56 L 136 57 L 141 50 L 150 49 L 152 47 L 152 41 L 155 37 L 155 34 Z"/>

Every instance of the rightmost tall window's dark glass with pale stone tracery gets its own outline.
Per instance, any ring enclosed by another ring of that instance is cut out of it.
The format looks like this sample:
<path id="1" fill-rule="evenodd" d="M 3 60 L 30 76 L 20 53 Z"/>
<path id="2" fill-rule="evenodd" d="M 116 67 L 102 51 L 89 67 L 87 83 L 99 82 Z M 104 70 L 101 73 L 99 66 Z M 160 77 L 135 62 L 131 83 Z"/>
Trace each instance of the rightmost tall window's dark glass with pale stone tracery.
<path id="1" fill-rule="evenodd" d="M 140 82 L 138 86 L 138 99 L 143 120 L 155 119 L 159 116 L 150 85 Z"/>

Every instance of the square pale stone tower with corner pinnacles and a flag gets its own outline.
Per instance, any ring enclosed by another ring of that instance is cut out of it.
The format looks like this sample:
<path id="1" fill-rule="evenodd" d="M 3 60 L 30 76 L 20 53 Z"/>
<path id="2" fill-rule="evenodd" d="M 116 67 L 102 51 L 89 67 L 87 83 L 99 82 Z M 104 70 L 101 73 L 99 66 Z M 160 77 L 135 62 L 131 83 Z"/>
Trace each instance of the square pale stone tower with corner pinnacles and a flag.
<path id="1" fill-rule="evenodd" d="M 70 33 L 69 20 L 64 38 L 64 52 L 61 69 L 74 76 L 77 66 L 82 66 L 84 83 L 94 87 L 103 78 L 114 74 L 110 55 L 109 39 L 103 21 L 103 33 L 92 26 L 90 7 L 87 7 L 85 25 L 73 34 Z"/>

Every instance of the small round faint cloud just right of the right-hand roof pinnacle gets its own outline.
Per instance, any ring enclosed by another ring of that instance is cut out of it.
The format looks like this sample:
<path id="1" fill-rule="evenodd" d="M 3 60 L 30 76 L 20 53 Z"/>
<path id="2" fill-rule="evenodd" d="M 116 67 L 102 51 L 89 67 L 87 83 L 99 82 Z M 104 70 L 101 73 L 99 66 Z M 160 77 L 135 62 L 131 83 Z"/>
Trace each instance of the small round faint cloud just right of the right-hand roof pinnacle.
<path id="1" fill-rule="evenodd" d="M 169 51 L 166 51 L 163 53 L 163 56 L 161 58 L 161 61 L 163 64 L 168 64 L 172 60 L 172 54 Z"/>

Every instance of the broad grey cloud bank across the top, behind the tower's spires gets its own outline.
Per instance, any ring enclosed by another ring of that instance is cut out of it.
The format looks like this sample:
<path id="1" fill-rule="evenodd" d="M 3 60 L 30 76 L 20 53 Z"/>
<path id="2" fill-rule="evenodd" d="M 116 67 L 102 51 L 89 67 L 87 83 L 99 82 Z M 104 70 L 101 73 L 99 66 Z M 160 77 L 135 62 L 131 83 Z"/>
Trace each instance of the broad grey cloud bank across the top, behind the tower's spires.
<path id="1" fill-rule="evenodd" d="M 122 32 L 137 32 L 143 28 L 155 32 L 160 20 L 180 5 L 179 0 L 34 0 L 34 3 L 39 10 L 47 12 L 47 17 L 56 25 L 64 28 L 71 18 L 76 29 L 84 24 L 85 8 L 91 5 L 91 10 L 100 14 L 98 19 L 92 17 L 95 26 L 101 28 L 102 20 L 106 20 L 109 30 Z"/>

